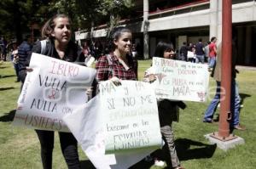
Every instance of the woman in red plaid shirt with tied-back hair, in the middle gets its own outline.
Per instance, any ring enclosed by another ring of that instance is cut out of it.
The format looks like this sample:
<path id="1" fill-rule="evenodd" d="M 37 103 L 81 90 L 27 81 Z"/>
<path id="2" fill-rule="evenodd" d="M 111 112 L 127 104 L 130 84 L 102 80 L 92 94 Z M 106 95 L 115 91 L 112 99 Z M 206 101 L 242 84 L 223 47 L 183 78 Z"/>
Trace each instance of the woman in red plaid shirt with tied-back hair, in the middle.
<path id="1" fill-rule="evenodd" d="M 131 31 L 119 26 L 113 29 L 110 54 L 104 55 L 96 63 L 97 82 L 112 79 L 119 83 L 120 80 L 137 80 L 136 65 L 131 57 Z"/>

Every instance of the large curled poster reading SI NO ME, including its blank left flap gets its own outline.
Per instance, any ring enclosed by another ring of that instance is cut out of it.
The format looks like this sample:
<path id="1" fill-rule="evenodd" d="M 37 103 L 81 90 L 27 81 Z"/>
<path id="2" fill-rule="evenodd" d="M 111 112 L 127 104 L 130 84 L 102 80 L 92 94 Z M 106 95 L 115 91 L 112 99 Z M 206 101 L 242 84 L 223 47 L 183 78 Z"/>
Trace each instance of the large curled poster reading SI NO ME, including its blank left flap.
<path id="1" fill-rule="evenodd" d="M 96 98 L 63 118 L 96 168 L 128 168 L 162 143 L 154 90 L 121 83 L 102 82 Z"/>

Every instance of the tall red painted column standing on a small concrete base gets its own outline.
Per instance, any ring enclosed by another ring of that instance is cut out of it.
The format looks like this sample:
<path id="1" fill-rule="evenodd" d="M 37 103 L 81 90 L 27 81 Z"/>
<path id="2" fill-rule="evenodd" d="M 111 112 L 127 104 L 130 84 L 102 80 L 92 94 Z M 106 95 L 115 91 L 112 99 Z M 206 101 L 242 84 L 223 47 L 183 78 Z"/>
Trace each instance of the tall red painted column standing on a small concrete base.
<path id="1" fill-rule="evenodd" d="M 232 1 L 222 0 L 221 104 L 218 136 L 230 136 L 230 93 L 232 66 Z"/>

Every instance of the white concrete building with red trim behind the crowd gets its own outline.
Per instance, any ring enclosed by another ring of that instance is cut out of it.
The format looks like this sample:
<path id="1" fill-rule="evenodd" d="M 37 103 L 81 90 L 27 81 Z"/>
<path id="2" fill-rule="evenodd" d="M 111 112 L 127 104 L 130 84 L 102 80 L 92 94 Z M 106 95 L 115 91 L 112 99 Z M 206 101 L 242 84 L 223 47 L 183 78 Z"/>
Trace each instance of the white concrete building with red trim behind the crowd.
<path id="1" fill-rule="evenodd" d="M 172 2 L 172 3 L 171 3 Z M 174 3 L 176 2 L 176 3 Z M 201 38 L 207 42 L 211 37 L 222 37 L 222 0 L 194 1 L 150 1 L 149 0 L 149 55 L 160 40 L 173 42 L 180 48 L 183 42 L 195 43 Z M 143 1 L 138 0 L 136 11 L 143 10 Z M 135 19 L 123 20 L 122 25 L 131 28 L 134 43 L 143 47 L 143 16 L 138 12 Z M 106 25 L 105 25 L 106 26 Z M 232 1 L 232 30 L 236 36 L 237 64 L 256 66 L 256 2 L 255 0 Z M 106 27 L 102 25 L 93 32 L 93 37 L 106 37 Z M 89 32 L 76 31 L 76 40 L 83 41 Z"/>

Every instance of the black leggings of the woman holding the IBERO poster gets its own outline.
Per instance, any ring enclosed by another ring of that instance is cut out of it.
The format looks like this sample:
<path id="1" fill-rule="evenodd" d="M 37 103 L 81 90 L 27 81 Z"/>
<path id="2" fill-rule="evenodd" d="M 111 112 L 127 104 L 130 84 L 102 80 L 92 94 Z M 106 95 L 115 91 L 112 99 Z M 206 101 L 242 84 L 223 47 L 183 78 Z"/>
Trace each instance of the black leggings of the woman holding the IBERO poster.
<path id="1" fill-rule="evenodd" d="M 36 130 L 41 144 L 41 159 L 44 169 L 52 168 L 52 152 L 55 132 Z M 78 142 L 70 132 L 59 132 L 61 151 L 69 169 L 80 168 Z"/>

